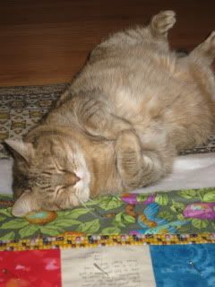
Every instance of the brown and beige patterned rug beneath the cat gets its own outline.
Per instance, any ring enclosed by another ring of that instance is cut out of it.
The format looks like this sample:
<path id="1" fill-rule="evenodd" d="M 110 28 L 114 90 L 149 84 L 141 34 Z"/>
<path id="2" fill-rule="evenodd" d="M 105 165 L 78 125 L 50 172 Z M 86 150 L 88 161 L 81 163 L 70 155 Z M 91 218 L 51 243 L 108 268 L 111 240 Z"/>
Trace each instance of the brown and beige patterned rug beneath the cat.
<path id="1" fill-rule="evenodd" d="M 0 88 L 0 158 L 8 158 L 3 141 L 20 139 L 44 117 L 68 84 Z M 182 152 L 215 152 L 215 135 L 207 144 Z"/>

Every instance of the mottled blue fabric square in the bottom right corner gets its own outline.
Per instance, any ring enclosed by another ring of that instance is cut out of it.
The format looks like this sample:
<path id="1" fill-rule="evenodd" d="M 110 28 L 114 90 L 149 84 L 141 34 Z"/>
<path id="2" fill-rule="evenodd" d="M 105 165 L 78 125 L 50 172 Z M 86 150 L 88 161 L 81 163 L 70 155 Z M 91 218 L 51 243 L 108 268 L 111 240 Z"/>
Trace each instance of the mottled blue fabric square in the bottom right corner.
<path id="1" fill-rule="evenodd" d="M 157 287 L 214 287 L 215 244 L 150 246 Z"/>

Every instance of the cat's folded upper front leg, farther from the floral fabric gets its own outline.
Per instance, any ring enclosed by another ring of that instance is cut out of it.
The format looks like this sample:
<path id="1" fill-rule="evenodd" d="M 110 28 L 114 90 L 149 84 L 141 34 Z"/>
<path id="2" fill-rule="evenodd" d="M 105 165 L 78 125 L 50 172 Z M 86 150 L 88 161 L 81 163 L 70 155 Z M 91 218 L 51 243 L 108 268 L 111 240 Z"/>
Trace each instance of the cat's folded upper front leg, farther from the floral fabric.
<path id="1" fill-rule="evenodd" d="M 125 119 L 112 114 L 107 104 L 97 98 L 78 99 L 74 110 L 78 122 L 90 135 L 115 140 L 120 132 L 132 127 Z"/>

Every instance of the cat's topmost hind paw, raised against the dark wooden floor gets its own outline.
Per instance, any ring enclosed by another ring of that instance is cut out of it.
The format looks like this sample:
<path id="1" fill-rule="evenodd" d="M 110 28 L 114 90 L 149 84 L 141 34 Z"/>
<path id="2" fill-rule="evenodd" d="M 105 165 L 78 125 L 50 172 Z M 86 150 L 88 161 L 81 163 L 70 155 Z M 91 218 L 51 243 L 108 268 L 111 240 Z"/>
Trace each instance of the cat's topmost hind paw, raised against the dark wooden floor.
<path id="1" fill-rule="evenodd" d="M 168 30 L 176 23 L 176 13 L 171 10 L 161 11 L 153 16 L 150 26 L 159 35 L 167 35 Z"/>

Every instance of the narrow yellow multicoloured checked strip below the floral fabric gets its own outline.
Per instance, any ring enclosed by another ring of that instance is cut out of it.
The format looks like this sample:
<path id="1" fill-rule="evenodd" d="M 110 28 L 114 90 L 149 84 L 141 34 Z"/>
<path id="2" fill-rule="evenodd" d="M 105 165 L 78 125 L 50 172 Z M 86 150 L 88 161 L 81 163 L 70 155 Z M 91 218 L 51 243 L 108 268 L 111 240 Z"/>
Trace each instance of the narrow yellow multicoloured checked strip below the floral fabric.
<path id="1" fill-rule="evenodd" d="M 69 233 L 69 232 L 68 232 Z M 71 232 L 73 233 L 73 232 Z M 58 237 L 0 240 L 0 251 L 35 249 L 96 248 L 129 245 L 174 245 L 215 243 L 215 233 L 90 235 L 65 234 Z"/>

